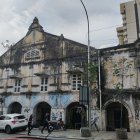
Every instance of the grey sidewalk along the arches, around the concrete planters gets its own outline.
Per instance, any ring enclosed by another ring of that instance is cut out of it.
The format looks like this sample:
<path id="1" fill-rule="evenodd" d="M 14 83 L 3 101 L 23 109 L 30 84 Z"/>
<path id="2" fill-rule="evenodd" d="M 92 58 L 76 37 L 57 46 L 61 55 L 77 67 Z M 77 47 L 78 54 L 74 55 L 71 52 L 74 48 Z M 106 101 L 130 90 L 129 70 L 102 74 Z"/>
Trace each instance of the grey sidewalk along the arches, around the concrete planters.
<path id="1" fill-rule="evenodd" d="M 27 131 L 19 132 L 20 135 L 27 135 Z M 40 130 L 33 129 L 31 131 L 31 135 L 33 136 L 46 136 L 48 133 L 44 130 L 44 134 L 41 134 Z M 75 140 L 116 140 L 116 134 L 114 131 L 92 131 L 91 137 L 81 137 L 80 130 L 68 129 L 66 131 L 63 130 L 55 130 L 53 131 L 49 137 L 63 137 L 65 139 L 75 139 Z M 139 132 L 128 132 L 129 140 L 140 140 Z"/>

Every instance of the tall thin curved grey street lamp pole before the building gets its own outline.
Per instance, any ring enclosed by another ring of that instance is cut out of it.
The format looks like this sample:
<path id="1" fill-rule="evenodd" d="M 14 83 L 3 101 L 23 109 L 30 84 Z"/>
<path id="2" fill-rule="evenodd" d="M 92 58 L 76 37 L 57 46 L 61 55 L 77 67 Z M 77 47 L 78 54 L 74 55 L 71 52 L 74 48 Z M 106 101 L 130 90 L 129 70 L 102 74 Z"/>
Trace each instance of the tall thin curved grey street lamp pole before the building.
<path id="1" fill-rule="evenodd" d="M 86 17 L 87 17 L 87 24 L 88 24 L 88 67 L 89 67 L 89 63 L 90 63 L 90 37 L 89 37 L 89 18 L 88 18 L 88 13 L 87 13 L 87 10 L 86 10 L 86 7 L 83 3 L 82 0 L 80 0 L 83 7 L 84 7 L 84 10 L 85 10 L 85 13 L 86 13 Z M 91 121 L 90 121 L 90 117 L 91 117 L 91 112 L 90 112 L 90 88 L 89 88 L 89 69 L 87 70 L 87 105 L 88 105 L 88 125 L 89 127 L 91 127 Z"/>

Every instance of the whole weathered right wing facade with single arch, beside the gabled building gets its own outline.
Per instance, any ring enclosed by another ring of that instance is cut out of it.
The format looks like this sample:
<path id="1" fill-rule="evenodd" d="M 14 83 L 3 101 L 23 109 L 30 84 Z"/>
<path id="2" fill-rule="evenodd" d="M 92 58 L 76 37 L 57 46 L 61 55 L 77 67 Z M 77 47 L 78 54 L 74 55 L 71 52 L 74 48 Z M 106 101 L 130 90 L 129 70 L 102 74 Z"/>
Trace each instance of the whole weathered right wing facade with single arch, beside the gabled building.
<path id="1" fill-rule="evenodd" d="M 139 40 L 128 45 L 101 49 L 100 52 L 102 127 L 104 130 L 123 127 L 128 131 L 139 131 Z"/>

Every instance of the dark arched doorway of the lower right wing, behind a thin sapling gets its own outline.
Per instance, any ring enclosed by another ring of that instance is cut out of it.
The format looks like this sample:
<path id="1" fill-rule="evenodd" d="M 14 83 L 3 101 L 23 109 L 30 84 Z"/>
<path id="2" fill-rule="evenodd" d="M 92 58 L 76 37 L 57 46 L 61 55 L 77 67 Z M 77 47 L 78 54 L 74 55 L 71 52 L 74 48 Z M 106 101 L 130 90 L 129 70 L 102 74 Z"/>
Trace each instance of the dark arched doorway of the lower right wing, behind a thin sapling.
<path id="1" fill-rule="evenodd" d="M 114 131 L 116 128 L 122 127 L 129 131 L 128 111 L 124 105 L 122 105 L 122 119 L 121 119 L 121 103 L 110 103 L 106 108 L 106 129 L 108 131 Z"/>

